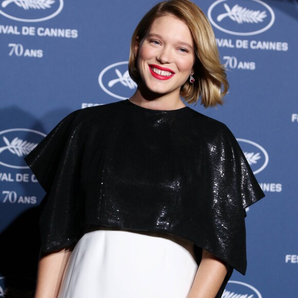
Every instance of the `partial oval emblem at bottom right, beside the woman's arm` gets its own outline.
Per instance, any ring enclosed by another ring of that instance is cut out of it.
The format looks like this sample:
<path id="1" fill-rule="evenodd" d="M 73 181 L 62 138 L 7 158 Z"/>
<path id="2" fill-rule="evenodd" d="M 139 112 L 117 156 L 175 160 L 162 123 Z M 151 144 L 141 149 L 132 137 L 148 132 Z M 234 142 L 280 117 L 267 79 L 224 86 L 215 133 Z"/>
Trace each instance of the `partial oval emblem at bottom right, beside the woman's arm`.
<path id="1" fill-rule="evenodd" d="M 262 298 L 262 295 L 255 287 L 249 284 L 229 281 L 221 298 L 228 297 Z"/>

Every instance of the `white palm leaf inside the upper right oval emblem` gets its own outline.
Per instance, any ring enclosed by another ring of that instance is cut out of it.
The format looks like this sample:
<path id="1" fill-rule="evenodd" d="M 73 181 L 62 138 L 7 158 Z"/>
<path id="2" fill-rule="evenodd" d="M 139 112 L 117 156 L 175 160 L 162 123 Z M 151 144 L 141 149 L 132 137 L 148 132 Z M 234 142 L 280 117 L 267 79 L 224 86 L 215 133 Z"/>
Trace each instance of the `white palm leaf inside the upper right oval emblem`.
<path id="1" fill-rule="evenodd" d="M 267 17 L 266 11 L 260 10 L 251 10 L 245 7 L 241 7 L 238 4 L 234 5 L 232 9 L 228 4 L 224 4 L 224 7 L 227 12 L 219 14 L 217 16 L 217 21 L 220 22 L 224 20 L 225 17 L 229 16 L 232 21 L 237 22 L 238 24 L 243 23 L 260 23 L 264 21 L 264 18 Z"/>

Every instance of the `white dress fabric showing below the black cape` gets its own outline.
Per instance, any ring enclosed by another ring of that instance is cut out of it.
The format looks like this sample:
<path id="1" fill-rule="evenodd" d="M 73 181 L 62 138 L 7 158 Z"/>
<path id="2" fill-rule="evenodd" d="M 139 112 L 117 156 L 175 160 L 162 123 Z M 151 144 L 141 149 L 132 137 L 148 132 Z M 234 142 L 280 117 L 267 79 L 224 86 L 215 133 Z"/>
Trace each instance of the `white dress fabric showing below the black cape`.
<path id="1" fill-rule="evenodd" d="M 125 230 L 86 233 L 68 259 L 58 297 L 186 298 L 197 264 L 170 238 Z"/>

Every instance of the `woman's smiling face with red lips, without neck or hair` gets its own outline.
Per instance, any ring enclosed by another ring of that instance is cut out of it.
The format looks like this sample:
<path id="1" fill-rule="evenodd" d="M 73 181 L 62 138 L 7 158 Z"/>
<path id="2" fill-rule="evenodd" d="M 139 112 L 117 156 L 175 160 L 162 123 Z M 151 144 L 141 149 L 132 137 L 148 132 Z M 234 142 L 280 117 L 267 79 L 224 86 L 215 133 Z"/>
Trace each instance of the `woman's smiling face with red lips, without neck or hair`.
<path id="1" fill-rule="evenodd" d="M 190 29 L 173 15 L 158 17 L 136 44 L 138 70 L 144 85 L 156 94 L 179 97 L 193 72 L 194 43 Z"/>

